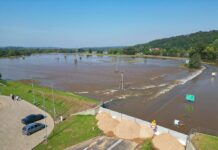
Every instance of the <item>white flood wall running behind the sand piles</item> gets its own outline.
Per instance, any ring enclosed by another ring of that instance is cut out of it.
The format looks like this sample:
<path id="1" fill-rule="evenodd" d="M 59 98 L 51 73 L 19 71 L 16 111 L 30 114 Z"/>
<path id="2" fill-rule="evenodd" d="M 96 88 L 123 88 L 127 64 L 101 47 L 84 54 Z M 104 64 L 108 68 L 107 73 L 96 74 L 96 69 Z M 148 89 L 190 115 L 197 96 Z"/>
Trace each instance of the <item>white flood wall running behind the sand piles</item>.
<path id="1" fill-rule="evenodd" d="M 118 120 L 125 119 L 125 120 L 134 121 L 134 122 L 136 122 L 138 124 L 141 124 L 141 125 L 148 125 L 148 126 L 151 125 L 151 123 L 148 122 L 148 121 L 138 119 L 138 118 L 135 118 L 135 117 L 132 117 L 132 116 L 128 116 L 126 114 L 122 114 L 122 113 L 119 113 L 119 112 L 116 112 L 116 111 L 112 111 L 110 109 L 106 109 L 106 108 L 103 108 L 103 107 L 100 107 L 98 112 L 99 113 L 100 112 L 107 112 L 107 113 L 111 114 L 111 116 L 114 119 L 118 119 Z M 177 138 L 178 141 L 181 144 L 186 145 L 187 138 L 188 138 L 188 136 L 186 134 L 179 133 L 177 131 L 170 130 L 168 128 L 165 128 L 165 127 L 162 127 L 162 126 L 158 125 L 157 126 L 157 131 L 155 132 L 155 135 L 159 135 L 159 134 L 162 134 L 162 133 L 168 133 L 168 134 L 172 135 L 173 137 Z"/>

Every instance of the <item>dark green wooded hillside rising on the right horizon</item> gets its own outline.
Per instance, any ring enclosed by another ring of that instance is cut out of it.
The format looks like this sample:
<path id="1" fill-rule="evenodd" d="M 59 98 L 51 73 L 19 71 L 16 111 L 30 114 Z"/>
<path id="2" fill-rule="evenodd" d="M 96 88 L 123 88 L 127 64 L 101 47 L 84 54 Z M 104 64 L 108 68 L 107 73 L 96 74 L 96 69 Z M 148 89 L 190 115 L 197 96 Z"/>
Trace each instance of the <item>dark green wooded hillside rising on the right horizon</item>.
<path id="1" fill-rule="evenodd" d="M 126 48 L 108 50 L 109 54 L 190 57 L 198 53 L 202 59 L 217 61 L 218 31 L 196 32 L 189 35 L 154 40 Z"/>

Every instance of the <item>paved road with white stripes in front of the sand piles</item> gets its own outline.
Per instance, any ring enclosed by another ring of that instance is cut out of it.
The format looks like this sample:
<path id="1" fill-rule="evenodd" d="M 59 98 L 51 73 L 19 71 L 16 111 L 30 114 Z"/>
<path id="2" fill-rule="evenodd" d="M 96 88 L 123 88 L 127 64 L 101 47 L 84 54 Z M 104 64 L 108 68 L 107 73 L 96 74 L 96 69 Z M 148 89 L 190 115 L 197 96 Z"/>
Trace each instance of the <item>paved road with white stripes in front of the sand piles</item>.
<path id="1" fill-rule="evenodd" d="M 67 148 L 66 150 L 134 150 L 137 143 L 101 136 Z"/>

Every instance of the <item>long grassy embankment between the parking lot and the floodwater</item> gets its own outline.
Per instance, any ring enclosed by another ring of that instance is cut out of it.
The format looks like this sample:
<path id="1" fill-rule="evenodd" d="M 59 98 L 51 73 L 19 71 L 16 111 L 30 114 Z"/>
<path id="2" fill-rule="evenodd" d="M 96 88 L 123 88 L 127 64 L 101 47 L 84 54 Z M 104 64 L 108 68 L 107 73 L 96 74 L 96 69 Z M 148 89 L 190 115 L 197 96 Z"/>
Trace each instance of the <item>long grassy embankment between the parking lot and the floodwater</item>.
<path id="1" fill-rule="evenodd" d="M 22 99 L 33 103 L 33 88 L 31 84 L 18 81 L 1 81 L 0 93 L 3 95 L 18 95 Z M 34 93 L 37 106 L 44 109 L 43 101 L 45 97 L 46 111 L 53 116 L 53 97 L 52 90 L 47 87 L 34 85 Z M 56 117 L 59 115 L 69 115 L 94 107 L 98 102 L 96 100 L 82 97 L 70 92 L 54 90 Z M 53 116 L 54 117 L 54 116 Z"/>

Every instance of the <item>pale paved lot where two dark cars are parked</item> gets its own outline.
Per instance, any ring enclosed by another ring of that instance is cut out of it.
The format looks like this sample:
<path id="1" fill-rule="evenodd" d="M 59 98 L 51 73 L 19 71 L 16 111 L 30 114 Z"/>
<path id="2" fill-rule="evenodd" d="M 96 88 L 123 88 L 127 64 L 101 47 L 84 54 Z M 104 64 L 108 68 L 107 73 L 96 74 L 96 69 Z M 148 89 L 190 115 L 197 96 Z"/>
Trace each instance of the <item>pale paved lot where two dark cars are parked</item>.
<path id="1" fill-rule="evenodd" d="M 46 122 L 48 127 L 26 136 L 22 134 L 24 125 L 20 120 L 31 113 L 45 114 L 47 116 L 46 120 L 43 119 L 39 122 Z M 50 115 L 24 100 L 12 101 L 7 96 L 0 96 L 0 120 L 1 150 L 30 150 L 43 140 L 46 130 L 49 134 L 54 128 L 54 121 Z"/>

